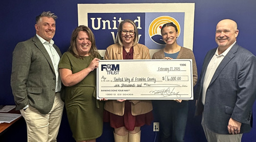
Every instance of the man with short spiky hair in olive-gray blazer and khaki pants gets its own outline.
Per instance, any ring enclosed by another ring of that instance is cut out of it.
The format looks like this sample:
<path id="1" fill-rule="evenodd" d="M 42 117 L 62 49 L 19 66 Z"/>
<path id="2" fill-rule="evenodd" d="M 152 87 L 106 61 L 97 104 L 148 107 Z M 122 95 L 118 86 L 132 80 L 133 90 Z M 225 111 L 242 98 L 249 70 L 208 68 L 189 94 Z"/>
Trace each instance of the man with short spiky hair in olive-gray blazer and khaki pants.
<path id="1" fill-rule="evenodd" d="M 64 102 L 60 98 L 60 49 L 54 44 L 57 18 L 36 17 L 36 35 L 13 51 L 11 87 L 16 109 L 27 123 L 28 141 L 57 141 Z"/>

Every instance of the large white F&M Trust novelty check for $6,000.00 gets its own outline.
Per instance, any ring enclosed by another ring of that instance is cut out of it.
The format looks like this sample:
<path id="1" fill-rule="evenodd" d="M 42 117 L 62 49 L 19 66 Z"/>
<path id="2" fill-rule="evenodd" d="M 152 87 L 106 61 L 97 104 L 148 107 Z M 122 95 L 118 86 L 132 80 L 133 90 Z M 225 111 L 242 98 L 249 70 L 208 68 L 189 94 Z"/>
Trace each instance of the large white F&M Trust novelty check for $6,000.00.
<path id="1" fill-rule="evenodd" d="M 193 99 L 192 60 L 100 60 L 97 99 Z"/>

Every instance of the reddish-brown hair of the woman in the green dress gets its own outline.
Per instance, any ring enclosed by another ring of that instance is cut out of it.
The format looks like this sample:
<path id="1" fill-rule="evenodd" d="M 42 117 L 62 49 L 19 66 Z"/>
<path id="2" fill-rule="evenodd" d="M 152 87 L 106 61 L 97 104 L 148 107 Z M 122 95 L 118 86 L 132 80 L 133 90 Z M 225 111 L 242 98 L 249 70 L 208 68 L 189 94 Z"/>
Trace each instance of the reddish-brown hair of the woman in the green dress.
<path id="1" fill-rule="evenodd" d="M 94 58 L 98 58 L 99 52 L 97 50 L 97 46 L 96 46 L 96 42 L 95 42 L 95 37 L 94 37 L 94 33 L 92 33 L 92 31 L 89 29 L 89 27 L 85 26 L 85 25 L 79 25 L 72 33 L 71 36 L 71 41 L 70 41 L 70 46 L 68 48 L 68 51 L 71 52 L 74 56 L 76 56 L 77 58 L 82 58 L 83 56 L 79 55 L 78 50 L 77 50 L 77 36 L 78 33 L 80 31 L 86 32 L 89 36 L 90 42 L 91 42 L 91 47 L 89 50 L 89 54 L 91 56 L 92 59 Z"/>

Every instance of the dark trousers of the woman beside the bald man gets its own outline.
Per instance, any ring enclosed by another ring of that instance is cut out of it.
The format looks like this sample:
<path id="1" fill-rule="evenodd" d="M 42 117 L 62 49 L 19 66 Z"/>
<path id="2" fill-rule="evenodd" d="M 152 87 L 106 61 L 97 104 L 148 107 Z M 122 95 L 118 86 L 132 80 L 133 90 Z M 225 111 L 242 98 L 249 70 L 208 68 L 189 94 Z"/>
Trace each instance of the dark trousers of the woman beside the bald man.
<path id="1" fill-rule="evenodd" d="M 184 141 L 189 101 L 154 100 L 153 109 L 159 117 L 160 141 Z"/>

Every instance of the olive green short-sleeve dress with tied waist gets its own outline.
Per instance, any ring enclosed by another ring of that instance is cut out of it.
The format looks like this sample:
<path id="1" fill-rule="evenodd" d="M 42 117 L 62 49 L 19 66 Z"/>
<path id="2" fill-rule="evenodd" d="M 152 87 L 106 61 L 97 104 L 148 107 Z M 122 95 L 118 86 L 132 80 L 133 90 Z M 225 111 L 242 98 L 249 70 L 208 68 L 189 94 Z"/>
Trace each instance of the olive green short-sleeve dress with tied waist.
<path id="1" fill-rule="evenodd" d="M 102 59 L 100 54 L 98 58 Z M 59 68 L 76 73 L 87 68 L 92 60 L 91 56 L 79 59 L 71 52 L 65 52 Z M 65 88 L 67 119 L 76 141 L 95 139 L 102 134 L 104 101 L 96 99 L 96 71 L 90 72 L 75 86 Z"/>

